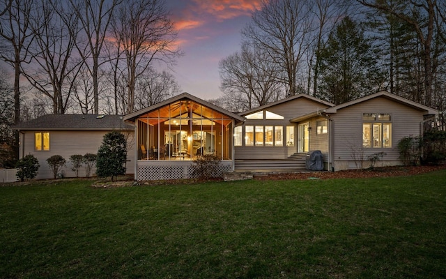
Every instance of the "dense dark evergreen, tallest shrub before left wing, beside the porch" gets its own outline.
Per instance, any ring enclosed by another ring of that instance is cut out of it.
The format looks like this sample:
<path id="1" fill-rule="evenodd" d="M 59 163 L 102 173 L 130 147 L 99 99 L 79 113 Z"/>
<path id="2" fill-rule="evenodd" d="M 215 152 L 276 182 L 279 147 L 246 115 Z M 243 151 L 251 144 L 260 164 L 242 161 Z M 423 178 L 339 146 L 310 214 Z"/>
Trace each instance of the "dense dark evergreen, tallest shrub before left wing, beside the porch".
<path id="1" fill-rule="evenodd" d="M 126 149 L 125 135 L 117 131 L 105 134 L 96 158 L 96 174 L 111 176 L 112 181 L 114 177 L 125 174 Z"/>

